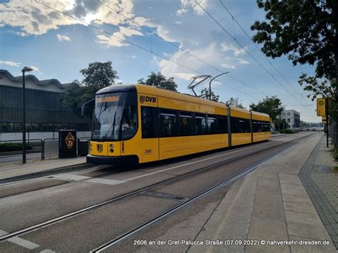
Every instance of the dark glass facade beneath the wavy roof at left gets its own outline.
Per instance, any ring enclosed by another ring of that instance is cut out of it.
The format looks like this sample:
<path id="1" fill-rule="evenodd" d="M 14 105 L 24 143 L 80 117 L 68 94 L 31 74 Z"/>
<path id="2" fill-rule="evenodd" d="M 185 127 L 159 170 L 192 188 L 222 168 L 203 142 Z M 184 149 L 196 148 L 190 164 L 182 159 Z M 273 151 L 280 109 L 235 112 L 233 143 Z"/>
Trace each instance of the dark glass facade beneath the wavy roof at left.
<path id="1" fill-rule="evenodd" d="M 26 88 L 26 130 L 52 132 L 59 129 L 90 131 L 91 119 L 78 118 L 64 108 L 60 93 Z M 22 88 L 0 86 L 0 133 L 22 130 Z"/>

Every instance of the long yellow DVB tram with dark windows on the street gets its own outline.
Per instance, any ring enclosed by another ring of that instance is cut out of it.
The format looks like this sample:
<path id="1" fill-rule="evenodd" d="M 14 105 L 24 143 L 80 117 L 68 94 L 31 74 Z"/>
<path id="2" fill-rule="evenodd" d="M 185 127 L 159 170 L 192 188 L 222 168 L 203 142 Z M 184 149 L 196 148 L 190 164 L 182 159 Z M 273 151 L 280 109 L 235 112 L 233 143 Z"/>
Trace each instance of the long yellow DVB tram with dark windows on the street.
<path id="1" fill-rule="evenodd" d="M 269 140 L 270 117 L 143 85 L 96 93 L 87 162 L 152 162 Z"/>

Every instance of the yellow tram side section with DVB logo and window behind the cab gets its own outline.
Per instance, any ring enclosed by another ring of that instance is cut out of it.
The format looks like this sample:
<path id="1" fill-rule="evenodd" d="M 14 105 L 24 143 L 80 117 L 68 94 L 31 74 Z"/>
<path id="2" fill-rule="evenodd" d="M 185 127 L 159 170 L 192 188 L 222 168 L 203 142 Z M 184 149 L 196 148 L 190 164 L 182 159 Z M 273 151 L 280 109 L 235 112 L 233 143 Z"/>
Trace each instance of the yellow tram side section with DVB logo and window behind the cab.
<path id="1" fill-rule="evenodd" d="M 140 96 L 140 95 L 139 95 Z M 140 101 L 140 162 L 158 160 L 158 108 L 157 97 L 146 96 Z M 147 100 L 148 98 L 148 100 Z"/>

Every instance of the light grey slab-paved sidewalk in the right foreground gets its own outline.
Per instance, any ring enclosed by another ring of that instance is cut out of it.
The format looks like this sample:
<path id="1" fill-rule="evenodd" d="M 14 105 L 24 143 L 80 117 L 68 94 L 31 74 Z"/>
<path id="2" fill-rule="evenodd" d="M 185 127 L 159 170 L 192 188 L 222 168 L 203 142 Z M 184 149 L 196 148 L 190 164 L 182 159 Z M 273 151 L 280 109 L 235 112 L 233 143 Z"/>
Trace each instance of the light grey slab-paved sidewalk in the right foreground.
<path id="1" fill-rule="evenodd" d="M 195 238 L 232 244 L 196 245 L 189 252 L 337 252 L 298 176 L 321 138 L 298 143 L 236 182 Z M 259 245 L 244 245 L 246 239 Z"/>

